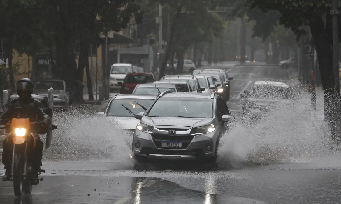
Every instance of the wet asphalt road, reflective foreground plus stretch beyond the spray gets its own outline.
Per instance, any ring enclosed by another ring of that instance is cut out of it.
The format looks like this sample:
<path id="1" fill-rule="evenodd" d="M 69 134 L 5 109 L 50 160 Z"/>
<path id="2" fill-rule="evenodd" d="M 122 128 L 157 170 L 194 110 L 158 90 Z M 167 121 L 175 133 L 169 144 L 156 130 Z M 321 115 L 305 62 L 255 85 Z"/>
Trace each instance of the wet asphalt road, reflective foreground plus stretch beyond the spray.
<path id="1" fill-rule="evenodd" d="M 239 95 L 254 81 L 288 79 L 287 70 L 273 66 L 235 66 L 229 75 L 234 79 L 227 105 L 237 118 Z M 136 170 L 132 159 L 124 164 L 110 159 L 50 161 L 44 162 L 44 181 L 31 195 L 16 199 L 12 183 L 0 181 L 0 203 L 341 203 L 340 159 L 218 169 L 172 162 L 144 170 Z"/>

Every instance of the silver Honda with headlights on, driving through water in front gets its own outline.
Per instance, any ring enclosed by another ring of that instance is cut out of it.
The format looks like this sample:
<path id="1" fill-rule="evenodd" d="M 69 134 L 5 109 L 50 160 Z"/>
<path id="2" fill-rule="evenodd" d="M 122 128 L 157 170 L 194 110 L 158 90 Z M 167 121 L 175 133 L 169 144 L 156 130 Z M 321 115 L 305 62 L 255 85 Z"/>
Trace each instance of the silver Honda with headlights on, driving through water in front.
<path id="1" fill-rule="evenodd" d="M 166 107 L 166 108 L 165 108 Z M 178 159 L 214 164 L 219 141 L 234 116 L 216 92 L 162 92 L 135 116 L 132 151 L 137 162 Z"/>

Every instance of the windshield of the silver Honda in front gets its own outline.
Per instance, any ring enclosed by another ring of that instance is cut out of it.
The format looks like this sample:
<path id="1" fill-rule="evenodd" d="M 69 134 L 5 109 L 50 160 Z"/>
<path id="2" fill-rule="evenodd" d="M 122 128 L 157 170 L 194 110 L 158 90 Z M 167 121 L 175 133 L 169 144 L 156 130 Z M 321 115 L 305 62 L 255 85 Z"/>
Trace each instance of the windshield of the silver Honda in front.
<path id="1" fill-rule="evenodd" d="M 213 116 L 212 99 L 163 97 L 153 105 L 148 116 L 211 118 Z"/>

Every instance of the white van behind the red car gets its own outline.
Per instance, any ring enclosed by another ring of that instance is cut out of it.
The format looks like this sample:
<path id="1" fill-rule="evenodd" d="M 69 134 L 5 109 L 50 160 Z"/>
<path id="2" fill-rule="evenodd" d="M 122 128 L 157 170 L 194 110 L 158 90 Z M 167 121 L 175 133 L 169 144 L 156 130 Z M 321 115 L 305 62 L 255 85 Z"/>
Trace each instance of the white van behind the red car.
<path id="1" fill-rule="evenodd" d="M 128 73 L 133 72 L 132 64 L 116 63 L 111 65 L 109 87 L 110 90 L 119 91 L 123 80 Z"/>

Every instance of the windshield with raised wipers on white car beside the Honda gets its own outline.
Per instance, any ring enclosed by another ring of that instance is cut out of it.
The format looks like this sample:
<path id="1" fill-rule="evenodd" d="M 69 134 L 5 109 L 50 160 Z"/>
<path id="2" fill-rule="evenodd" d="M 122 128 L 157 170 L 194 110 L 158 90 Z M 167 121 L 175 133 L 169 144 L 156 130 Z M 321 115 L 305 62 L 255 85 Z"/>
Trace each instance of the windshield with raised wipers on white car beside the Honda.
<path id="1" fill-rule="evenodd" d="M 114 99 L 109 105 L 106 116 L 134 117 L 134 114 L 146 112 L 140 105 L 148 109 L 153 101 L 153 99 Z M 123 105 L 127 107 L 133 114 L 123 107 Z"/>

